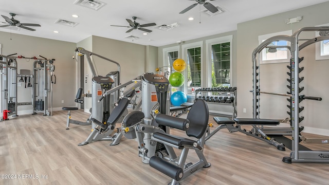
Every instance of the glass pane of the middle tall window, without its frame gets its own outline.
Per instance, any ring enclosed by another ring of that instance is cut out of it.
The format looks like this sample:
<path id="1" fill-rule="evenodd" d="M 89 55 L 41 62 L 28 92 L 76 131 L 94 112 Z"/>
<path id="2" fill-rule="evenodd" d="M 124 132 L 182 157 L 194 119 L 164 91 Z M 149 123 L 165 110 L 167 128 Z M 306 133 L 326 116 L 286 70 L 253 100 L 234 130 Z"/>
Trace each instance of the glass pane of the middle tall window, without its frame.
<path id="1" fill-rule="evenodd" d="M 196 87 L 201 87 L 201 47 L 187 50 L 187 88 L 193 94 Z"/>

